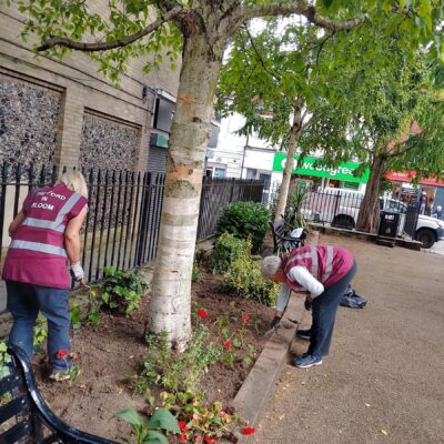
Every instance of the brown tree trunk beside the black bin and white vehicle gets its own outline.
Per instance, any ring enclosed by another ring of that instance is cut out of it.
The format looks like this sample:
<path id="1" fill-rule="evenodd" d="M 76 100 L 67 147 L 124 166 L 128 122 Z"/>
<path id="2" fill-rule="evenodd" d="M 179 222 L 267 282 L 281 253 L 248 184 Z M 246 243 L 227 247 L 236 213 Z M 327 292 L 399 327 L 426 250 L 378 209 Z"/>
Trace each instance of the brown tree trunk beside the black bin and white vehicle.
<path id="1" fill-rule="evenodd" d="M 373 159 L 369 183 L 357 216 L 357 231 L 366 233 L 377 232 L 380 223 L 380 188 L 385 172 L 385 163 L 386 158 L 384 154 L 379 154 Z"/>

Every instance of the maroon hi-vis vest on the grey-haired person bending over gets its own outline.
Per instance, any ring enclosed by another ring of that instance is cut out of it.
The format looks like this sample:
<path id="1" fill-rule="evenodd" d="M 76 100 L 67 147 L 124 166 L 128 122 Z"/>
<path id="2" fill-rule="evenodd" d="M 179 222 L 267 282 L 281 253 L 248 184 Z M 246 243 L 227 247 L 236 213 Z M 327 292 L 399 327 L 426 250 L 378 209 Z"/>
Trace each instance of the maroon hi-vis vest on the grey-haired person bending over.
<path id="1" fill-rule="evenodd" d="M 313 278 L 321 282 L 325 289 L 337 282 L 353 266 L 353 254 L 345 249 L 333 245 L 302 246 L 293 250 L 282 258 L 285 283 L 294 291 L 305 289 L 291 281 L 287 275 L 293 266 L 302 265 L 309 270 Z"/>

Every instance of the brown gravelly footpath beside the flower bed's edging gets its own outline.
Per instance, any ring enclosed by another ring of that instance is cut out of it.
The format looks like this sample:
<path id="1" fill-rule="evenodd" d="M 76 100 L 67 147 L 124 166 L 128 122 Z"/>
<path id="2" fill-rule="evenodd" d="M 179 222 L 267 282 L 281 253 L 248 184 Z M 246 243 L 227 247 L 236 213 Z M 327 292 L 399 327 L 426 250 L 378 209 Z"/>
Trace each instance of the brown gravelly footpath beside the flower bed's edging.
<path id="1" fill-rule="evenodd" d="M 253 442 L 443 444 L 444 256 L 321 235 L 325 242 L 355 253 L 353 285 L 369 304 L 339 309 L 321 366 L 285 366 Z"/>

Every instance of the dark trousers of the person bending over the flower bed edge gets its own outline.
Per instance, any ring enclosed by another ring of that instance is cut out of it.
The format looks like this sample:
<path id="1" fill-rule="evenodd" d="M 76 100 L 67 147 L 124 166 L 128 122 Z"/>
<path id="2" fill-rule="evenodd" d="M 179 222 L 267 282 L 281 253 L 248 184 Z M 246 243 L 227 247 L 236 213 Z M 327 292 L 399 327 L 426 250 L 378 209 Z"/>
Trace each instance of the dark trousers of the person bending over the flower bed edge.
<path id="1" fill-rule="evenodd" d="M 353 266 L 343 278 L 329 286 L 323 293 L 313 300 L 313 323 L 311 327 L 312 336 L 307 352 L 309 354 L 313 356 L 325 356 L 329 354 L 337 305 L 355 273 L 356 262 L 353 262 Z"/>

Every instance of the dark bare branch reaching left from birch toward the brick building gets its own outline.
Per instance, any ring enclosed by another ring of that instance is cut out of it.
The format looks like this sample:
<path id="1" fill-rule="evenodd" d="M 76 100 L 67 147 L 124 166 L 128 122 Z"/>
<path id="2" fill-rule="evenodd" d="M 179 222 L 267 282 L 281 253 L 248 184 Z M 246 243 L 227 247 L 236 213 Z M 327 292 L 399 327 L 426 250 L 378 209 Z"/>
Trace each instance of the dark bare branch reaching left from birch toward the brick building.
<path id="1" fill-rule="evenodd" d="M 40 47 L 37 48 L 37 50 L 46 51 L 58 44 L 65 47 L 65 48 L 84 51 L 84 52 L 107 51 L 110 49 L 127 47 L 128 44 L 131 44 L 134 41 L 141 39 L 142 37 L 145 37 L 149 33 L 155 31 L 158 28 L 160 28 L 167 21 L 170 21 L 170 20 L 176 18 L 182 11 L 183 11 L 183 7 L 178 6 L 173 9 L 171 9 L 170 11 L 165 12 L 160 19 L 150 23 L 147 28 L 143 28 L 140 31 L 134 32 L 131 36 L 123 37 L 122 39 L 119 39 L 119 40 L 113 40 L 113 41 L 109 41 L 109 42 L 87 43 L 87 42 L 78 42 L 78 41 L 74 41 L 71 39 L 67 39 L 64 37 L 53 36 L 53 37 L 48 38 Z"/>

